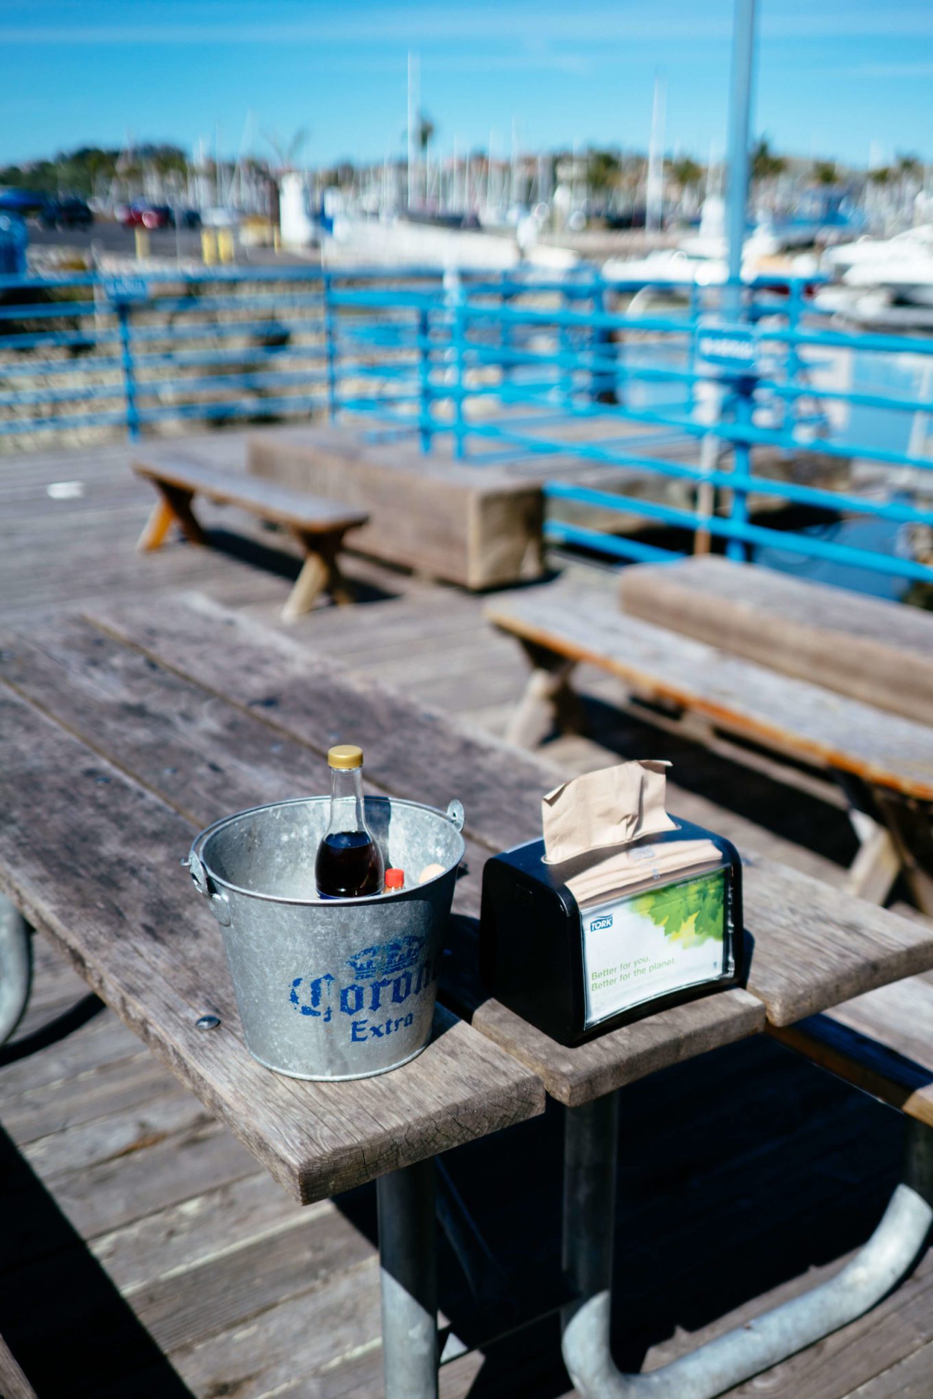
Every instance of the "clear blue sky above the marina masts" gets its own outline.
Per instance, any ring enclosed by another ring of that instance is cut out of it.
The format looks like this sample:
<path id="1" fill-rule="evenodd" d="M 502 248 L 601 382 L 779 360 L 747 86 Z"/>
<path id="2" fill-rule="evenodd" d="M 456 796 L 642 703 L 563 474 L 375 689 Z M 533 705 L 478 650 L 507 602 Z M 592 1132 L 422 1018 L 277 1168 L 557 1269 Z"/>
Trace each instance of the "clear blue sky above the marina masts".
<path id="1" fill-rule="evenodd" d="M 0 162 L 83 143 L 215 132 L 309 164 L 403 148 L 406 53 L 438 144 L 643 150 L 653 76 L 666 144 L 726 139 L 732 0 L 0 0 Z M 755 130 L 782 151 L 933 159 L 930 0 L 760 0 Z"/>

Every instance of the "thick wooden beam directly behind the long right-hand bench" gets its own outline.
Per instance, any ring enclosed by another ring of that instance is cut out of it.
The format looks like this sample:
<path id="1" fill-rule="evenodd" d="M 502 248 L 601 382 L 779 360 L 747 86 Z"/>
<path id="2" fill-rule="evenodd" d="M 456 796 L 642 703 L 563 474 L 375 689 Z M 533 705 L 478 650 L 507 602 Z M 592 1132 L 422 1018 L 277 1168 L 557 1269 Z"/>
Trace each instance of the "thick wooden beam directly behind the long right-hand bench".
<path id="1" fill-rule="evenodd" d="M 933 722 L 933 614 L 706 555 L 621 575 L 631 617 Z"/>

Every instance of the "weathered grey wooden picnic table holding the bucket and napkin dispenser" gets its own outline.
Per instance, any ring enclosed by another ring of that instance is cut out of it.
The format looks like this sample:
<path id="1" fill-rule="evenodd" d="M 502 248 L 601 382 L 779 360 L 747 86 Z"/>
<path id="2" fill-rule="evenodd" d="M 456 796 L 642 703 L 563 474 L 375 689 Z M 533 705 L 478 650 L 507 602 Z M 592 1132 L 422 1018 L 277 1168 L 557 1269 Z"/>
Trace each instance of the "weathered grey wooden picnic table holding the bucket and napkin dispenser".
<path id="1" fill-rule="evenodd" d="M 434 1392 L 438 1153 L 540 1114 L 547 1090 L 568 1143 L 611 1157 L 620 1086 L 933 965 L 926 926 L 746 852 L 747 988 L 557 1045 L 483 992 L 476 939 L 484 859 L 540 831 L 560 774 L 196 596 L 8 631 L 0 730 L 0 887 L 25 918 L 297 1199 L 379 1178 L 393 1395 Z M 301 1083 L 246 1052 L 220 932 L 179 859 L 221 814 L 323 790 L 339 739 L 362 743 L 371 790 L 463 802 L 466 873 L 429 1048 L 380 1077 Z M 204 1014 L 220 1028 L 199 1030 Z"/>

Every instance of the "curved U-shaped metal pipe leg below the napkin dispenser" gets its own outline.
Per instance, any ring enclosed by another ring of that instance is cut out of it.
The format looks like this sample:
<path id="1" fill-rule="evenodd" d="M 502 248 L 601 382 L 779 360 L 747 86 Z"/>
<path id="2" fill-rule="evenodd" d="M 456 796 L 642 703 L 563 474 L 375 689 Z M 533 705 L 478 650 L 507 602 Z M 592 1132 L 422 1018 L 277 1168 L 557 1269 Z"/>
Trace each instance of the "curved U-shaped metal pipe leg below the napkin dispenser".
<path id="1" fill-rule="evenodd" d="M 933 1128 L 905 1119 L 901 1184 L 869 1242 L 818 1287 L 645 1375 L 610 1353 L 617 1094 L 567 1108 L 562 1256 L 578 1300 L 564 1363 L 583 1399 L 713 1399 L 862 1316 L 909 1272 L 933 1223 Z"/>

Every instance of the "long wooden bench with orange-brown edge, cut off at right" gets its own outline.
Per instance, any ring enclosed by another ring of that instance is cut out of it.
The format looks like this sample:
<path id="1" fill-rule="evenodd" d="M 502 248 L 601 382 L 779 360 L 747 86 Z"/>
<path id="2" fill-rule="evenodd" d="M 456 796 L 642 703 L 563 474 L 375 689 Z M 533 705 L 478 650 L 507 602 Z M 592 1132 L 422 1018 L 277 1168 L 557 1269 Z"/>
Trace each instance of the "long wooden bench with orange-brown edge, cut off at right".
<path id="1" fill-rule="evenodd" d="M 725 730 L 831 774 L 863 838 L 850 890 L 881 902 L 902 870 L 933 912 L 933 727 L 625 616 L 599 589 L 548 585 L 499 597 L 485 614 L 532 662 L 513 743 L 534 744 L 567 711 L 578 662 L 599 666 L 641 700 L 698 718 L 701 739 Z"/>

